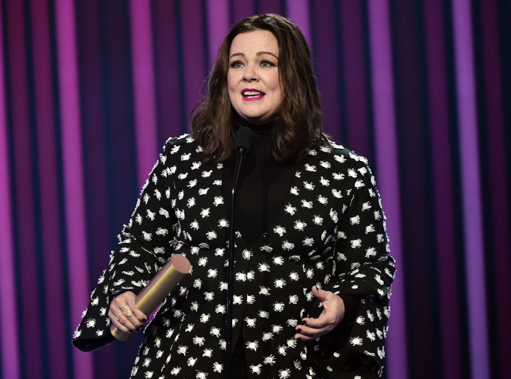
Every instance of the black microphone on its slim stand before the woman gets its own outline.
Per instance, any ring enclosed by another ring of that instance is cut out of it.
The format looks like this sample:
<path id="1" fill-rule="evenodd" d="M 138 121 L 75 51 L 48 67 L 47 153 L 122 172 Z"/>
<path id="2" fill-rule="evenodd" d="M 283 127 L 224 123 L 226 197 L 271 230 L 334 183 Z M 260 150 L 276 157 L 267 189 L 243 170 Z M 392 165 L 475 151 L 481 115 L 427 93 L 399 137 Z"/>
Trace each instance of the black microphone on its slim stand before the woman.
<path id="1" fill-rule="evenodd" d="M 235 245 L 235 220 L 234 220 L 234 208 L 235 208 L 235 191 L 238 184 L 238 176 L 240 174 L 241 161 L 243 156 L 246 155 L 250 146 L 252 145 L 253 132 L 248 126 L 242 126 L 236 132 L 234 138 L 235 150 L 238 152 L 236 159 L 236 167 L 233 176 L 233 183 L 230 191 L 230 206 L 229 206 L 229 257 L 227 266 L 227 309 L 225 316 L 225 367 L 224 377 L 228 379 L 230 373 L 230 356 L 233 344 L 233 287 L 234 287 L 234 245 Z"/>

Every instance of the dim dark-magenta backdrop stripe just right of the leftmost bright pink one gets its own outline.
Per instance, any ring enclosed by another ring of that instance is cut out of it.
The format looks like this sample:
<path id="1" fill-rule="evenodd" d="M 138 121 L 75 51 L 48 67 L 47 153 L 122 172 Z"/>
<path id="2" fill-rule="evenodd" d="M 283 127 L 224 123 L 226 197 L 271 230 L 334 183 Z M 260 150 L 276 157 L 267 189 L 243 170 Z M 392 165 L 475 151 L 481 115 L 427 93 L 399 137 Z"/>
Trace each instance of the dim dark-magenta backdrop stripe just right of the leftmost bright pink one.
<path id="1" fill-rule="evenodd" d="M 27 51 L 25 35 L 25 9 L 19 2 L 8 2 L 7 17 L 7 50 L 10 74 L 9 93 L 12 115 L 12 146 L 13 151 L 13 192 L 14 212 L 16 214 L 15 262 L 19 265 L 19 279 L 15 294 L 21 301 L 17 307 L 17 323 L 13 327 L 21 328 L 21 364 L 29 363 L 21 370 L 28 377 L 39 375 L 42 371 L 41 335 L 39 319 L 31 315 L 34 308 L 39 309 L 40 299 L 39 272 L 37 270 L 36 230 L 34 211 L 34 182 L 29 173 L 33 172 L 32 146 L 30 136 L 30 104 L 27 72 Z M 18 299 L 16 298 L 16 300 Z"/>

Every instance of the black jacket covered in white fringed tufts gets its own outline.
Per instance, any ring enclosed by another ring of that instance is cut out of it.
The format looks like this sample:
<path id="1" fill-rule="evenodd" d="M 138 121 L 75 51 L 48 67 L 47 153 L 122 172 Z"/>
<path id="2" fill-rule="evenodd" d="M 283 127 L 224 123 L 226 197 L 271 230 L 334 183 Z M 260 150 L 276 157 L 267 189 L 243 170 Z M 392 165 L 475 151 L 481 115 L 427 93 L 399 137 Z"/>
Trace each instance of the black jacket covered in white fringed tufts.
<path id="1" fill-rule="evenodd" d="M 140 292 L 172 254 L 185 255 L 192 271 L 147 326 L 132 377 L 222 375 L 229 202 L 224 165 L 203 163 L 201 154 L 190 135 L 167 141 L 74 335 L 84 351 L 112 342 L 111 297 Z M 252 245 L 236 239 L 233 335 L 242 328 L 248 375 L 377 377 L 394 265 L 374 177 L 364 158 L 334 143 L 289 169 L 273 228 Z M 301 318 L 321 311 L 313 285 L 360 305 L 353 322 L 296 341 Z"/>

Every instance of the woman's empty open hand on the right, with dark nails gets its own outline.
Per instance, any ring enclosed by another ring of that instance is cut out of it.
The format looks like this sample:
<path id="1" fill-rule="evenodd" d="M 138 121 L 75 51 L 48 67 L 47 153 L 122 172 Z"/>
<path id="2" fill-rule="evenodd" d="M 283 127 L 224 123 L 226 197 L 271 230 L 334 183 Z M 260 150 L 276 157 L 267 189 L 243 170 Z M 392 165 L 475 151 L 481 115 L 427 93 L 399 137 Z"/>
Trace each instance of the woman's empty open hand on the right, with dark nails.
<path id="1" fill-rule="evenodd" d="M 315 340 L 332 331 L 344 317 L 344 302 L 333 292 L 312 287 L 312 294 L 323 304 L 323 311 L 318 318 L 305 317 L 302 324 L 296 325 L 295 340 Z"/>

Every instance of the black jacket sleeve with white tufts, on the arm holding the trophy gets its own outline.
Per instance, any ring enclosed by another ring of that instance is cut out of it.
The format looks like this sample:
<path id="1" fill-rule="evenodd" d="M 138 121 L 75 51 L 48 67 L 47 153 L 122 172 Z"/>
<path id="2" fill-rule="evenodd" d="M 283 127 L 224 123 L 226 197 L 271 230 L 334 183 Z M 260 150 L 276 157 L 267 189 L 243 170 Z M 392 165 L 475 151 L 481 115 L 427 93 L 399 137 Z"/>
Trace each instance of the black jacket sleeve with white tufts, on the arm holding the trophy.
<path id="1" fill-rule="evenodd" d="M 168 155 L 173 144 L 174 140 L 167 142 L 154 165 L 119 245 L 111 252 L 108 266 L 82 314 L 73 336 L 73 344 L 82 351 L 95 350 L 115 340 L 108 317 L 113 296 L 126 291 L 140 293 L 172 255 L 175 215 L 170 203 Z"/>

